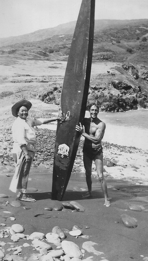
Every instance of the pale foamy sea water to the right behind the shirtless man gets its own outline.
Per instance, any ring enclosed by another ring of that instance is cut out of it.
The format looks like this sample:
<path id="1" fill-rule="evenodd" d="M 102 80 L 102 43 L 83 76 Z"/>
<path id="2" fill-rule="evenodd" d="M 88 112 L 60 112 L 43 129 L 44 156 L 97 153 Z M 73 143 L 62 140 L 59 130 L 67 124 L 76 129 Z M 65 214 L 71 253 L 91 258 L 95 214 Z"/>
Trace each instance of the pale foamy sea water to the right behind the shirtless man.
<path id="1" fill-rule="evenodd" d="M 87 111 L 86 117 L 89 116 Z M 98 118 L 106 124 L 103 141 L 148 150 L 147 109 L 99 112 Z"/>

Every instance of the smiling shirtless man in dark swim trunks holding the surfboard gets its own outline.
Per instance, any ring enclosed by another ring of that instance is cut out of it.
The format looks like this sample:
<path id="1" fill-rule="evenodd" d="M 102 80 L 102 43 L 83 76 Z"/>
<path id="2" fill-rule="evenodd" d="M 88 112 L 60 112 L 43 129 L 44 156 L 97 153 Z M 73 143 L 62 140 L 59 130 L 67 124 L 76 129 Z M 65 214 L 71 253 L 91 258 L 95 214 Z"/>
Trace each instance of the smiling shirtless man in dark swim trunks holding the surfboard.
<path id="1" fill-rule="evenodd" d="M 76 131 L 80 132 L 85 138 L 83 146 L 83 162 L 86 170 L 86 182 L 88 186 L 88 193 L 83 195 L 87 198 L 92 195 L 92 162 L 95 161 L 96 170 L 101 188 L 105 197 L 105 204 L 110 206 L 110 201 L 107 194 L 107 185 L 103 175 L 103 153 L 101 141 L 105 132 L 105 123 L 101 121 L 97 116 L 99 113 L 99 107 L 97 105 L 91 105 L 90 118 L 84 118 L 84 126 L 80 123 L 80 126 L 76 125 Z"/>

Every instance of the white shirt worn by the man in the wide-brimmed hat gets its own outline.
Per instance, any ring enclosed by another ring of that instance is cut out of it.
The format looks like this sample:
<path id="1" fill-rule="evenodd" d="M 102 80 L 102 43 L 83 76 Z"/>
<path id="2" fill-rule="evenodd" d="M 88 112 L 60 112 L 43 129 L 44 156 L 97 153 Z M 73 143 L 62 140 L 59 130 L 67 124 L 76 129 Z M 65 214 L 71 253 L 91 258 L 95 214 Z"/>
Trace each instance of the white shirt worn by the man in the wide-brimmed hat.
<path id="1" fill-rule="evenodd" d="M 27 145 L 27 143 L 36 143 L 36 134 L 34 126 L 44 123 L 42 118 L 29 118 L 23 120 L 17 117 L 12 125 L 12 138 L 14 142 L 17 142 L 19 146 Z"/>

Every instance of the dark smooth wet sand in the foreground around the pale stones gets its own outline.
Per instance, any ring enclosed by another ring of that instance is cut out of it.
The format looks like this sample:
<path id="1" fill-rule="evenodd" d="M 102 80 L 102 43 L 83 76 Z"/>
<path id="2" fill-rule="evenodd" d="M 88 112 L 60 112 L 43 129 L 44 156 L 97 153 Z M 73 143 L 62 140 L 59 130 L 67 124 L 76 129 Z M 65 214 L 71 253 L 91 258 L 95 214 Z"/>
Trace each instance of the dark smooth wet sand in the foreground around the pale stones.
<path id="1" fill-rule="evenodd" d="M 108 193 L 111 202 L 110 207 L 104 206 L 104 196 L 101 191 L 100 183 L 97 176 L 93 175 L 93 196 L 92 198 L 82 198 L 82 194 L 87 191 L 85 173 L 79 172 L 82 168 L 78 168 L 78 172 L 73 172 L 69 184 L 67 186 L 64 198 L 62 201 L 51 200 L 52 191 L 52 166 L 40 164 L 38 167 L 31 167 L 28 192 L 36 199 L 35 203 L 21 202 L 20 207 L 12 207 L 10 204 L 4 206 L 3 201 L 15 200 L 15 194 L 9 191 L 11 177 L 1 174 L 1 193 L 9 196 L 7 199 L 0 198 L 1 202 L 1 217 L 3 211 L 10 211 L 11 216 L 16 218 L 15 221 L 10 221 L 7 218 L 4 223 L 7 227 L 14 223 L 21 224 L 25 228 L 25 234 L 33 232 L 42 232 L 44 234 L 52 232 L 54 226 L 71 230 L 74 225 L 83 229 L 84 235 L 89 235 L 88 240 L 67 235 L 69 241 L 75 242 L 80 249 L 85 241 L 95 242 L 95 250 L 104 252 L 100 256 L 86 251 L 85 258 L 93 256 L 93 261 L 100 261 L 103 258 L 114 261 L 143 260 L 147 256 L 147 233 L 148 233 L 148 186 L 135 185 L 125 179 L 114 179 L 112 176 L 107 177 Z M 133 179 L 134 181 L 134 179 Z M 35 192 L 35 190 L 37 190 Z M 48 211 L 47 207 L 61 205 L 62 202 L 77 201 L 85 207 L 85 212 L 70 212 L 64 211 Z M 3 202 L 3 203 L 2 203 Z M 130 204 L 144 206 L 141 211 L 129 209 Z M 30 209 L 25 210 L 23 206 Z M 50 215 L 50 218 L 43 218 L 43 214 Z M 127 228 L 121 221 L 121 215 L 127 214 L 137 220 L 136 228 Z M 8 215 L 8 216 L 9 216 Z M 37 216 L 37 217 L 35 217 Z M 1 221 L 2 222 L 2 221 Z M 86 229 L 86 226 L 89 229 Z M 4 242 L 10 242 L 10 238 Z M 24 240 L 20 239 L 17 245 L 24 244 Z M 28 241 L 27 241 L 28 243 Z M 25 249 L 26 250 L 26 249 Z M 28 256 L 25 251 L 22 251 L 21 257 L 27 257 L 35 252 L 32 247 L 27 249 Z M 140 257 L 142 255 L 143 257 Z M 84 258 L 83 258 L 84 259 Z M 22 259 L 30 260 L 30 259 Z"/>

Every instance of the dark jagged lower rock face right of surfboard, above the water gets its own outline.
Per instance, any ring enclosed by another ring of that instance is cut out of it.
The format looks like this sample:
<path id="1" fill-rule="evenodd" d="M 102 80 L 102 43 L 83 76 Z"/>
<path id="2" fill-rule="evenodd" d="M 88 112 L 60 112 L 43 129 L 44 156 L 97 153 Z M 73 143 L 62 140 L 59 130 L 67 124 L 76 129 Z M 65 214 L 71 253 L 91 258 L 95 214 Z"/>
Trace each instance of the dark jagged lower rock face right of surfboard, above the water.
<path id="1" fill-rule="evenodd" d="M 138 104 L 146 108 L 147 102 L 147 95 L 141 91 L 140 86 L 117 80 L 111 81 L 110 84 L 90 87 L 88 95 L 88 107 L 89 104 L 96 103 L 101 111 L 137 110 Z"/>

